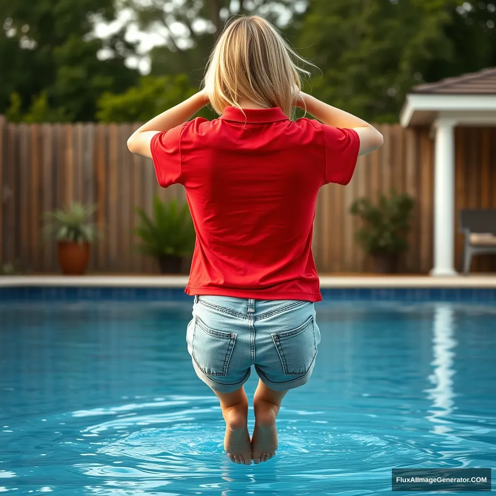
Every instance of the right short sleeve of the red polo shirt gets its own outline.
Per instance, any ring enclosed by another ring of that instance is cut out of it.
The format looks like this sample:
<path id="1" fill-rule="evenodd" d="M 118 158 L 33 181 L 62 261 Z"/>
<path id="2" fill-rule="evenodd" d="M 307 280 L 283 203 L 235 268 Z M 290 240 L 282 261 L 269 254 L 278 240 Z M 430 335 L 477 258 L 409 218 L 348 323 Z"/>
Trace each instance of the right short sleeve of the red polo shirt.
<path id="1" fill-rule="evenodd" d="M 354 129 L 322 124 L 325 145 L 325 184 L 346 186 L 353 177 L 360 150 L 360 137 Z"/>

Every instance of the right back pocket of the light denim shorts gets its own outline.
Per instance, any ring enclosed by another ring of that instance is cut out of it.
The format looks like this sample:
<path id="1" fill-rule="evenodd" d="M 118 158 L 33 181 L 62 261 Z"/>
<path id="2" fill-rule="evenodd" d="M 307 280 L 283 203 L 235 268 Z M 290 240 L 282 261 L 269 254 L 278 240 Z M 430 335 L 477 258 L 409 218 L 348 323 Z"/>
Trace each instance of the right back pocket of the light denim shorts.
<path id="1" fill-rule="evenodd" d="M 301 375 L 310 370 L 317 354 L 313 316 L 300 327 L 272 334 L 285 375 Z"/>

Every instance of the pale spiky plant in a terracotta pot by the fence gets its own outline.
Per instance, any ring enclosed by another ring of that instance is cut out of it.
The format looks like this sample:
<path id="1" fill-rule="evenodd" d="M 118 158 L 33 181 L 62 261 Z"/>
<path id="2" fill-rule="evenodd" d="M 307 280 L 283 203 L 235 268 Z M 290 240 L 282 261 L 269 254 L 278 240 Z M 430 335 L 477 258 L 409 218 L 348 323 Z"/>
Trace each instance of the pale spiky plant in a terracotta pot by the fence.
<path id="1" fill-rule="evenodd" d="M 54 234 L 57 255 L 63 274 L 82 275 L 86 272 L 90 257 L 90 243 L 96 236 L 94 224 L 89 218 L 96 205 L 72 202 L 62 210 L 45 212 L 45 234 Z"/>

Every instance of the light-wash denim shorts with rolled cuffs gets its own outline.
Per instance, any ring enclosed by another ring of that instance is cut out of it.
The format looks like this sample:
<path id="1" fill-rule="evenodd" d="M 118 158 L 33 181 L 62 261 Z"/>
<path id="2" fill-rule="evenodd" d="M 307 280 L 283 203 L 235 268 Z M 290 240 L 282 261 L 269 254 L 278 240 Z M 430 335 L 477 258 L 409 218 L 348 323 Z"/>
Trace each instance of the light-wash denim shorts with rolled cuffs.
<path id="1" fill-rule="evenodd" d="M 313 302 L 195 296 L 192 314 L 187 349 L 196 374 L 212 389 L 235 391 L 252 365 L 276 391 L 308 381 L 320 343 Z"/>

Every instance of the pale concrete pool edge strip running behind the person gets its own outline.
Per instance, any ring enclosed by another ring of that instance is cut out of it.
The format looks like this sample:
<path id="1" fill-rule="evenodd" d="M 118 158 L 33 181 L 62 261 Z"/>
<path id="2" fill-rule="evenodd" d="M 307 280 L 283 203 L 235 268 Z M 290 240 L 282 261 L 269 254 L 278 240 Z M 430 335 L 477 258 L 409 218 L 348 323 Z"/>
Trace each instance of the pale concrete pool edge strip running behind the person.
<path id="1" fill-rule="evenodd" d="M 162 275 L 18 275 L 0 276 L 0 287 L 186 288 L 188 276 Z M 321 288 L 496 288 L 496 274 L 433 277 L 427 275 L 320 276 Z"/>

